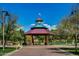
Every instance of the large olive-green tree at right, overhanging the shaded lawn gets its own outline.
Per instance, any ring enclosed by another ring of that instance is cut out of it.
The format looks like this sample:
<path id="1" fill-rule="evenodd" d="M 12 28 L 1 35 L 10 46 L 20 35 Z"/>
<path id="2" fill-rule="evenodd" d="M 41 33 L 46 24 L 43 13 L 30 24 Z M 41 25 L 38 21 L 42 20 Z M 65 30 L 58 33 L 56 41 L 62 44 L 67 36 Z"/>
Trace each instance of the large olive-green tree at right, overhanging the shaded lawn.
<path id="1" fill-rule="evenodd" d="M 68 37 L 75 39 L 75 49 L 77 52 L 77 36 L 79 34 L 79 6 L 71 11 L 71 14 L 60 23 L 60 28 L 67 33 Z M 67 39 L 68 39 L 67 37 Z"/>

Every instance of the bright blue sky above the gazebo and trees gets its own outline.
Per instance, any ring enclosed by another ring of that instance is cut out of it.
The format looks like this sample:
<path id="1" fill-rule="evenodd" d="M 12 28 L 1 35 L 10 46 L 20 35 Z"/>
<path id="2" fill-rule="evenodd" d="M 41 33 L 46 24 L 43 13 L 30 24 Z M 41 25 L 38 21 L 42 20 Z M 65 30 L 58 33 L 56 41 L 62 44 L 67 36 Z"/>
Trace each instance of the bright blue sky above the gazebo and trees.
<path id="1" fill-rule="evenodd" d="M 2 3 L 0 8 L 18 16 L 17 23 L 24 31 L 28 31 L 31 25 L 35 24 L 39 13 L 46 26 L 55 27 L 70 14 L 73 5 L 71 3 Z"/>

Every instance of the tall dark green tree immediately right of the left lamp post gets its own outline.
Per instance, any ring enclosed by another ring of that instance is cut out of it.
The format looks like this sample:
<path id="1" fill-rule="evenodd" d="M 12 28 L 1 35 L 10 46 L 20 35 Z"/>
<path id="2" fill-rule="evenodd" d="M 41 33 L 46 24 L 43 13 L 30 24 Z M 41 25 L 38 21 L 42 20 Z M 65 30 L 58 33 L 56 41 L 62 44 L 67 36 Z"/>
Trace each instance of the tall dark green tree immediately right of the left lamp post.
<path id="1" fill-rule="evenodd" d="M 15 24 L 16 24 L 16 16 L 14 16 L 14 18 L 12 18 L 13 15 L 10 15 L 10 17 L 7 20 L 6 26 L 5 26 L 5 41 L 9 40 L 11 41 L 11 36 L 13 34 L 13 32 L 15 31 Z M 6 44 L 6 42 L 5 42 Z"/>

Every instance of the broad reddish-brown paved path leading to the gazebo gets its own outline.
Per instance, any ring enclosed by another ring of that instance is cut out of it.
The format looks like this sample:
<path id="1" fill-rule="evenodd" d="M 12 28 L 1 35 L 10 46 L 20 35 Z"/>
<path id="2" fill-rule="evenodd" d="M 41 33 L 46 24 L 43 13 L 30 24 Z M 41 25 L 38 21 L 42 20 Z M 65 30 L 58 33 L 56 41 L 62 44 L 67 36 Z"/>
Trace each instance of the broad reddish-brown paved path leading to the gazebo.
<path id="1" fill-rule="evenodd" d="M 62 52 L 55 46 L 26 46 L 11 54 L 10 56 L 66 56 L 67 52 Z"/>

